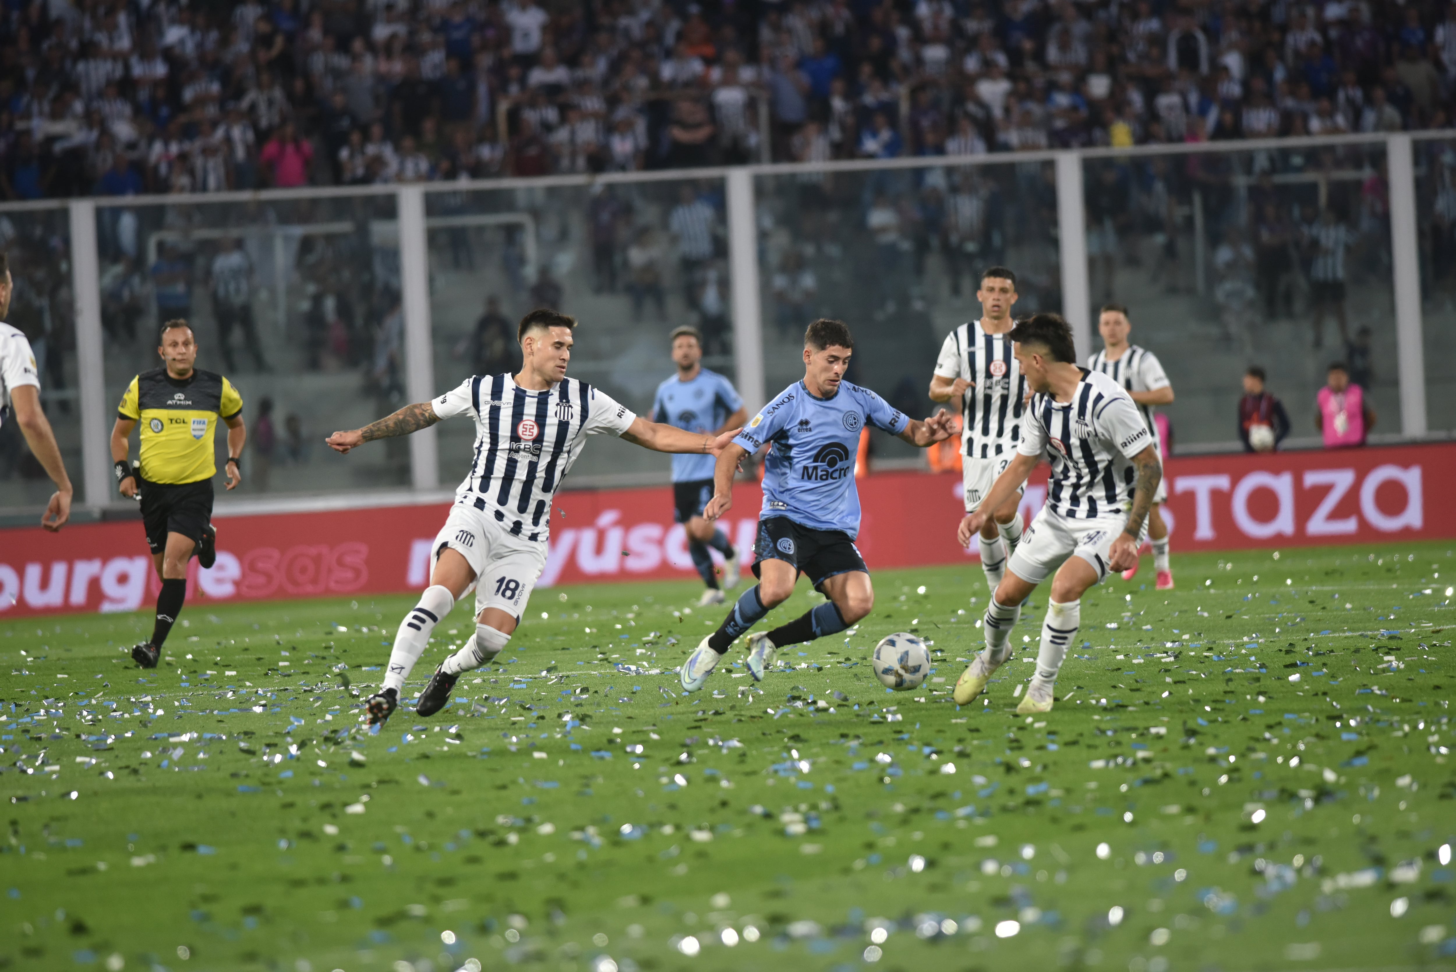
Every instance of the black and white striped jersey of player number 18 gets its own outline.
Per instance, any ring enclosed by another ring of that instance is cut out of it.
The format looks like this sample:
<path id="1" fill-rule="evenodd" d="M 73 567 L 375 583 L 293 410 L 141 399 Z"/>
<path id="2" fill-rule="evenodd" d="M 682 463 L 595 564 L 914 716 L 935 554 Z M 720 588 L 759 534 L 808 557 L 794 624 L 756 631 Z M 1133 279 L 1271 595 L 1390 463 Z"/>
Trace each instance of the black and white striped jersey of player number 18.
<path id="1" fill-rule="evenodd" d="M 604 392 L 563 379 L 545 392 L 518 386 L 510 375 L 475 375 L 435 398 L 435 415 L 475 420 L 470 475 L 456 490 L 515 536 L 545 542 L 550 501 L 587 436 L 620 436 L 636 415 Z"/>

